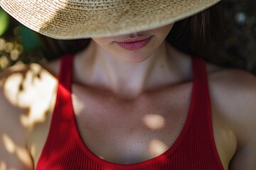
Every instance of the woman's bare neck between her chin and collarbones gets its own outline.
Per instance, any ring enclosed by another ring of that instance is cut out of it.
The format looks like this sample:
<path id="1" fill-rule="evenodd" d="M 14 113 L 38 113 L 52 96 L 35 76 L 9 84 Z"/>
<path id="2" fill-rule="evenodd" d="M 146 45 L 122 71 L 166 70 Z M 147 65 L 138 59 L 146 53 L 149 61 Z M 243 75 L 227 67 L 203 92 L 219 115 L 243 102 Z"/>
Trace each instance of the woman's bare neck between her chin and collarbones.
<path id="1" fill-rule="evenodd" d="M 100 86 L 127 98 L 134 98 L 146 90 L 165 86 L 176 79 L 170 74 L 174 66 L 171 66 L 166 42 L 148 59 L 138 63 L 119 60 L 93 41 L 87 50 L 79 55 L 82 55 L 80 58 L 84 60 L 77 62 L 80 65 L 79 72 L 76 73 L 78 79 L 86 79 L 83 81 L 85 84 Z"/>

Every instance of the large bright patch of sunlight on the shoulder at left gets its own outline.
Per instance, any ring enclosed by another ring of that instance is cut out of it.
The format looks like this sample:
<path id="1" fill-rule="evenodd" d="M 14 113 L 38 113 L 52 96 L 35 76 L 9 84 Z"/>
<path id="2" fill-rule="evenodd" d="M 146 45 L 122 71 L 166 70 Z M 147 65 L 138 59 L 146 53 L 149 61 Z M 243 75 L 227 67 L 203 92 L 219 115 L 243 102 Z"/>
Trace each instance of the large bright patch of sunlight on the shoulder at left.
<path id="1" fill-rule="evenodd" d="M 52 97 L 49 94 L 52 93 L 53 86 L 54 82 L 50 81 L 46 72 L 38 64 L 31 64 L 25 76 L 13 73 L 6 79 L 4 94 L 14 106 L 29 109 L 27 114 L 21 115 L 21 123 L 29 127 L 46 119 L 45 113 Z"/>

